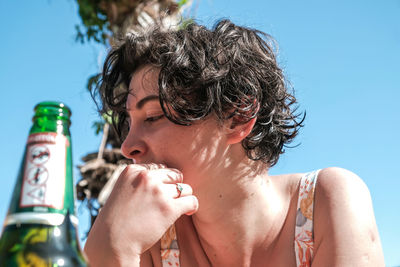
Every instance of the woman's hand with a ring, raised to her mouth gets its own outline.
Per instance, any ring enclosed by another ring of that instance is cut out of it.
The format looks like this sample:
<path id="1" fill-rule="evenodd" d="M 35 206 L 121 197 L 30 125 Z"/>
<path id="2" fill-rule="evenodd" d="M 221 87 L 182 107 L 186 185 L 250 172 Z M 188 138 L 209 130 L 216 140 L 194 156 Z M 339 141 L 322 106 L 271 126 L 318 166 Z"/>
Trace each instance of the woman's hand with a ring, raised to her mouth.
<path id="1" fill-rule="evenodd" d="M 195 213 L 197 198 L 182 181 L 180 171 L 163 165 L 127 166 L 89 233 L 85 252 L 91 266 L 139 262 L 181 215 Z"/>

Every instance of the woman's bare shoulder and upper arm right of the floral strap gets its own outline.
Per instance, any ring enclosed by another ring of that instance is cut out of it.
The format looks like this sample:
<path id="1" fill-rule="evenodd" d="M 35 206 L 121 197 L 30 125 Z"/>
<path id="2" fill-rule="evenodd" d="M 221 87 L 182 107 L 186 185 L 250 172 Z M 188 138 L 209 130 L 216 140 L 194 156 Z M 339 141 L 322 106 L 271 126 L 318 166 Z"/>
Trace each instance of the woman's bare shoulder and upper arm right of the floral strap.
<path id="1" fill-rule="evenodd" d="M 371 196 L 353 172 L 337 167 L 319 172 L 314 237 L 313 266 L 384 266 Z"/>

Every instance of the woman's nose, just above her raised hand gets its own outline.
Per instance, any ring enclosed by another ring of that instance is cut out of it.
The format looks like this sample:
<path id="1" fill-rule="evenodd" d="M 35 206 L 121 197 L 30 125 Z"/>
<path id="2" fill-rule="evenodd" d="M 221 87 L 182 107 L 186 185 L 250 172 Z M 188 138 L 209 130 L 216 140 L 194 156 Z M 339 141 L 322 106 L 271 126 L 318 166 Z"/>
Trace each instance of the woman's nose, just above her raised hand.
<path id="1" fill-rule="evenodd" d="M 140 158 L 146 153 L 145 142 L 140 136 L 139 131 L 134 131 L 131 128 L 121 145 L 122 155 L 128 159 L 132 159 L 136 163 L 139 163 Z"/>

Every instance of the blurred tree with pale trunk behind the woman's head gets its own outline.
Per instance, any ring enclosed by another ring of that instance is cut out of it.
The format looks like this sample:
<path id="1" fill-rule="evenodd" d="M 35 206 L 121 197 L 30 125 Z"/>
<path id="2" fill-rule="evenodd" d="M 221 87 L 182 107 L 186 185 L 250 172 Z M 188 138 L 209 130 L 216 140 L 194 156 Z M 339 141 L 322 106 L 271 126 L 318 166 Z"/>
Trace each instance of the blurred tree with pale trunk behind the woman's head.
<path id="1" fill-rule="evenodd" d="M 113 38 L 128 32 L 140 32 L 158 22 L 168 27 L 178 27 L 187 22 L 183 11 L 190 0 L 76 0 L 83 29 L 76 26 L 76 40 L 81 43 L 94 41 L 106 47 Z M 100 75 L 88 79 L 89 90 L 96 86 Z M 78 200 L 86 203 L 91 225 L 98 210 L 107 200 L 116 179 L 129 162 L 122 156 L 120 141 L 110 127 L 109 117 L 94 122 L 96 133 L 102 133 L 98 152 L 85 155 L 83 165 L 78 166 L 81 179 L 76 185 Z"/>

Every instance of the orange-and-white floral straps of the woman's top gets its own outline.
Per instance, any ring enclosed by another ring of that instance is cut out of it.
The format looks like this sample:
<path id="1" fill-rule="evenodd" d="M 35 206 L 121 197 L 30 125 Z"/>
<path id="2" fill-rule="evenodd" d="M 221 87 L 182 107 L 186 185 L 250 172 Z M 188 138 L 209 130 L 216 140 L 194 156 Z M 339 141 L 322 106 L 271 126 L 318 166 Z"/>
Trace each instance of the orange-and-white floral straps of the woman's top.
<path id="1" fill-rule="evenodd" d="M 306 173 L 300 179 L 294 238 L 297 267 L 310 267 L 314 256 L 313 210 L 318 172 L 319 170 Z M 180 266 L 175 225 L 161 238 L 161 261 L 163 267 Z"/>

